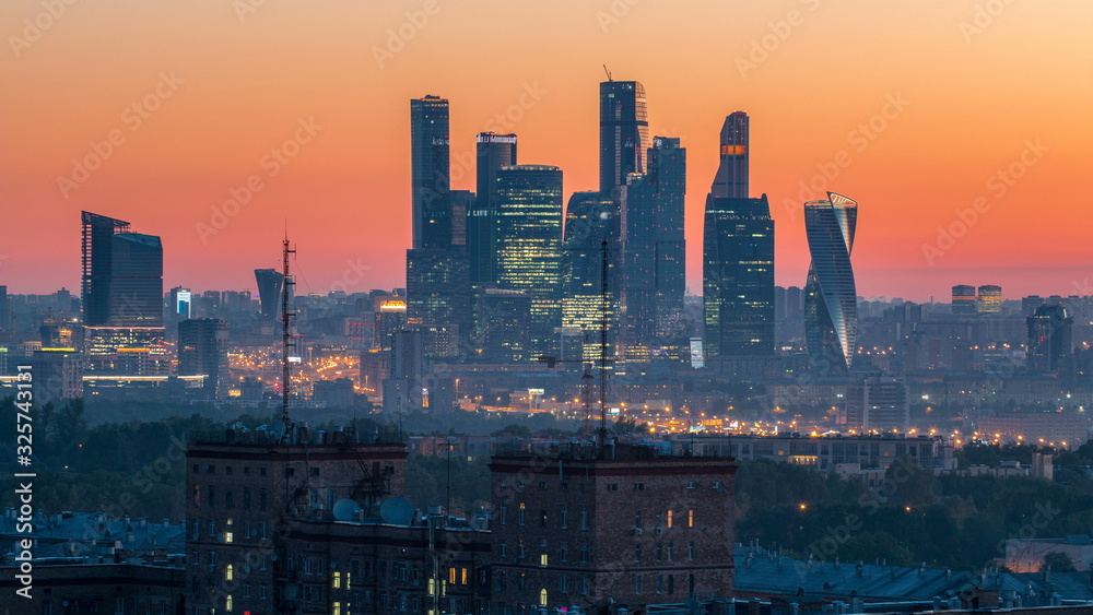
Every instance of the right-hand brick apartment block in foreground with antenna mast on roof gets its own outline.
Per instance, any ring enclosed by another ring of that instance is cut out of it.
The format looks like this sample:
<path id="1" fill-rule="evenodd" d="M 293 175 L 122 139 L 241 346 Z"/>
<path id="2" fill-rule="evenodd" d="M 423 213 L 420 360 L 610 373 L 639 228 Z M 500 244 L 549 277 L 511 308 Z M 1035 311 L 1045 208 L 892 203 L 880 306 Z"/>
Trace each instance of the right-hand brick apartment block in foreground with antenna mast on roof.
<path id="1" fill-rule="evenodd" d="M 573 443 L 490 469 L 493 613 L 732 595 L 731 459 Z"/>

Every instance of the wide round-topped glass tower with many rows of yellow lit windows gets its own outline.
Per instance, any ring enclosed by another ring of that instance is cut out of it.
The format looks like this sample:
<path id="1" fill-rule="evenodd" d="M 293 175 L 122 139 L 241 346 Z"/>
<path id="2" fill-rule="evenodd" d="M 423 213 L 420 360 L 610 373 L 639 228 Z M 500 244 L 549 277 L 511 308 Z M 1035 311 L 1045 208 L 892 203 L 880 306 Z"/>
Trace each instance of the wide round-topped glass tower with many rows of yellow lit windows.
<path id="1" fill-rule="evenodd" d="M 556 356 L 562 326 L 562 170 L 513 165 L 497 173 L 497 286 L 531 296 L 530 356 Z"/>

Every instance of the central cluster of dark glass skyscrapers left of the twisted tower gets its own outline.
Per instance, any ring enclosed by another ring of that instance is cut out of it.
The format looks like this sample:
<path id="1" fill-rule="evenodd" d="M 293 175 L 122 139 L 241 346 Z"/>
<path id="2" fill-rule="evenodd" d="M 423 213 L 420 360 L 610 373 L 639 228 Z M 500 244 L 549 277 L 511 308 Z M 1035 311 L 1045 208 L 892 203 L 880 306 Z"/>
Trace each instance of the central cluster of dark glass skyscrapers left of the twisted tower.
<path id="1" fill-rule="evenodd" d="M 451 190 L 448 100 L 410 111 L 408 327 L 456 335 L 462 358 L 685 360 L 686 149 L 650 138 L 639 82 L 600 84 L 599 190 L 564 209 L 562 170 L 518 161 L 516 134 L 478 134 L 477 192 Z M 704 225 L 709 358 L 774 355 L 774 222 L 750 198 L 748 143 L 731 114 Z"/>

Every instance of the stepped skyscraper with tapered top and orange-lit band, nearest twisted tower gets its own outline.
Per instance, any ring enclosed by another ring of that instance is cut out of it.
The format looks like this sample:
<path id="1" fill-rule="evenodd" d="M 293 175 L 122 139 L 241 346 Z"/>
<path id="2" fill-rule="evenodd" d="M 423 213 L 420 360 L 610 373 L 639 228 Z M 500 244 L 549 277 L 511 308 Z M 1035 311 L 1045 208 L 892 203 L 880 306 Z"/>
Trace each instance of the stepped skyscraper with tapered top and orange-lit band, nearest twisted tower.
<path id="1" fill-rule="evenodd" d="M 725 118 L 703 221 L 706 357 L 774 354 L 774 220 L 748 198 L 748 114 Z"/>

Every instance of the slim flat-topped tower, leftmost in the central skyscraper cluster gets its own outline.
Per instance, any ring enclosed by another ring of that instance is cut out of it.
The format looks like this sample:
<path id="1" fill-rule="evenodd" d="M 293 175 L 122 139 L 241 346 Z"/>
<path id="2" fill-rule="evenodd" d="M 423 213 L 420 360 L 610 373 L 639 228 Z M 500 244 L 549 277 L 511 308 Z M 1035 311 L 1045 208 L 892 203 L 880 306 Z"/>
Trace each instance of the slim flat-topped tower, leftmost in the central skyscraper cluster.
<path id="1" fill-rule="evenodd" d="M 410 154 L 413 181 L 413 248 L 451 246 L 448 100 L 410 100 Z"/>

